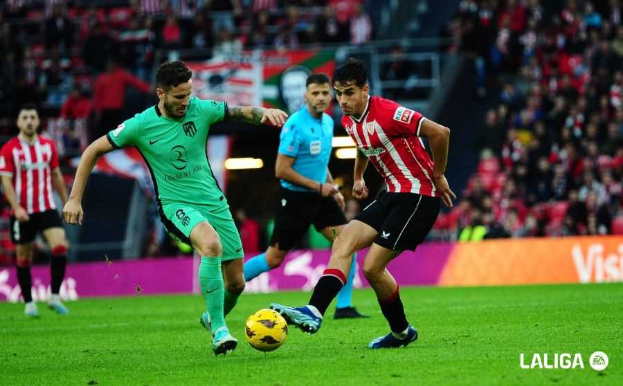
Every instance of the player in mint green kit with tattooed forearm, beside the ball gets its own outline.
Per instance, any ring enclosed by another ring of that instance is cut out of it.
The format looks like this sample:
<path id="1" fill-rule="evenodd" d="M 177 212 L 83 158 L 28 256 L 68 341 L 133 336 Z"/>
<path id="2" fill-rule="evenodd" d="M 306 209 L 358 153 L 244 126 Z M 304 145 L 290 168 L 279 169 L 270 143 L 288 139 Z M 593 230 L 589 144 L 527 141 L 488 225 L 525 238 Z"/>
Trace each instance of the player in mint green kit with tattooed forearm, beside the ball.
<path id="1" fill-rule="evenodd" d="M 82 154 L 63 208 L 69 224 L 82 223 L 82 194 L 96 160 L 122 147 L 136 147 L 150 168 L 161 221 L 170 235 L 201 255 L 199 283 L 207 311 L 201 324 L 213 334 L 215 354 L 235 349 L 225 315 L 244 290 L 242 242 L 229 205 L 214 178 L 206 141 L 222 120 L 281 127 L 287 114 L 262 107 L 234 107 L 191 97 L 192 72 L 181 61 L 162 64 L 156 74 L 159 102 L 95 140 Z"/>

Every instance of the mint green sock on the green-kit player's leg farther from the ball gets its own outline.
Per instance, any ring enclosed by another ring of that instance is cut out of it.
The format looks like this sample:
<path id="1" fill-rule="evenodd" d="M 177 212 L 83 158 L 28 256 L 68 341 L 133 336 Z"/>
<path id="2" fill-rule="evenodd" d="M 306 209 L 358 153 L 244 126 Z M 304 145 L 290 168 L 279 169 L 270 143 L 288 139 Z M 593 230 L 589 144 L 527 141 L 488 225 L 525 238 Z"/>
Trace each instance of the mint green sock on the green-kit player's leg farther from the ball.
<path id="1" fill-rule="evenodd" d="M 201 286 L 201 295 L 204 296 L 204 301 L 206 302 L 206 309 L 210 313 L 212 331 L 217 331 L 219 328 L 226 326 L 223 313 L 225 287 L 220 257 L 201 257 L 199 285 Z M 233 304 L 235 304 L 235 301 Z"/>

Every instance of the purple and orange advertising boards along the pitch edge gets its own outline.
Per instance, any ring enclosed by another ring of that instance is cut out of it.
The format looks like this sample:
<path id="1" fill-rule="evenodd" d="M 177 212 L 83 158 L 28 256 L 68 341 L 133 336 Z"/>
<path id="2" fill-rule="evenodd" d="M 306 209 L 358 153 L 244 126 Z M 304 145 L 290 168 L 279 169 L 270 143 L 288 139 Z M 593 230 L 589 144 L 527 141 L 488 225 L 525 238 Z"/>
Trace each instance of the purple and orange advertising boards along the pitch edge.
<path id="1" fill-rule="evenodd" d="M 359 252 L 355 288 L 368 286 Z M 291 252 L 280 268 L 256 277 L 246 291 L 309 290 L 323 274 L 330 250 Z M 179 257 L 70 264 L 61 296 L 79 297 L 199 293 L 198 258 Z M 623 238 L 492 240 L 428 243 L 404 252 L 389 266 L 401 286 L 489 286 L 623 282 Z M 49 293 L 49 268 L 33 267 L 33 297 Z M 0 268 L 0 301 L 20 298 L 15 268 Z"/>

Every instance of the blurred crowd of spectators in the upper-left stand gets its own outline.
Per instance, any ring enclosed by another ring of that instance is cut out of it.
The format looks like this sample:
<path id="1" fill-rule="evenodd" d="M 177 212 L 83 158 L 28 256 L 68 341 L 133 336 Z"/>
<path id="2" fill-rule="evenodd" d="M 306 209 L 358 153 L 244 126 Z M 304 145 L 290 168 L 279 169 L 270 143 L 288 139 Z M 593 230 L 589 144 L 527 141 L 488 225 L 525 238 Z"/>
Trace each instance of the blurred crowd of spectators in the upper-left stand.
<path id="1" fill-rule="evenodd" d="M 153 103 L 150 82 L 158 50 L 195 48 L 209 57 L 253 48 L 365 44 L 372 38 L 372 24 L 363 3 L 5 1 L 0 5 L 0 145 L 15 135 L 17 109 L 34 102 L 41 108 L 44 131 L 57 143 L 62 167 L 69 167 L 70 158 L 89 141 Z M 3 234 L 8 217 L 2 197 Z M 248 222 L 240 221 L 245 235 Z M 12 250 L 4 236 L 0 249 Z M 171 250 L 152 247 L 147 252 Z"/>

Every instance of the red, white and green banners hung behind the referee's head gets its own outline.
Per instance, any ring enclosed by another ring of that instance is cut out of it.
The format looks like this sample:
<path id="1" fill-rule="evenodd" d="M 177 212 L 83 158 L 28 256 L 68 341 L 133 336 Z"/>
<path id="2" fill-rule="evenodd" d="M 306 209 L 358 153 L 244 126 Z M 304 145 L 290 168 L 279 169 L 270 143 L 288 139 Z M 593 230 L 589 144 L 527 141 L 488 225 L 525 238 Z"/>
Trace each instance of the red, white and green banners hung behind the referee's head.
<path id="1" fill-rule="evenodd" d="M 186 64 L 192 69 L 195 95 L 201 99 L 242 106 L 263 104 L 293 113 L 305 102 L 307 75 L 331 76 L 335 59 L 330 51 L 258 50 Z"/>

